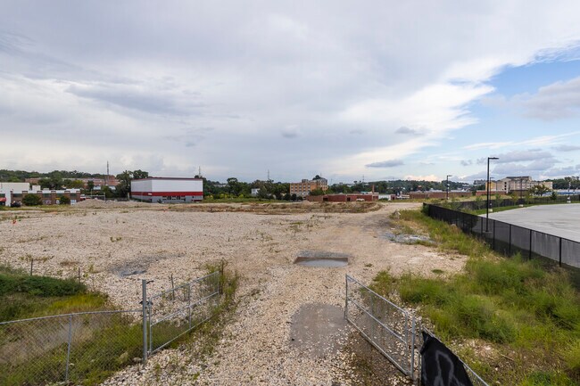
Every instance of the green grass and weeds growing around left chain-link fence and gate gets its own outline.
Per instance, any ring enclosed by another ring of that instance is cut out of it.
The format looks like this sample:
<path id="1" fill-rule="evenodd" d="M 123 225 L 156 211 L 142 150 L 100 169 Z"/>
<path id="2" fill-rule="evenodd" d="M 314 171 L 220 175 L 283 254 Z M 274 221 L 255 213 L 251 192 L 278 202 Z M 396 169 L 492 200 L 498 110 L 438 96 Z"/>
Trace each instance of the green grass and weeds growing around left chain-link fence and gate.
<path id="1" fill-rule="evenodd" d="M 223 267 L 208 267 L 211 272 Z M 107 297 L 88 292 L 84 285 L 70 280 L 29 276 L 10 267 L 0 267 L 0 320 L 34 316 L 49 316 L 80 311 L 113 309 Z M 237 275 L 220 275 L 223 296 L 220 302 L 207 309 L 211 323 L 201 324 L 193 333 L 171 343 L 191 344 L 201 353 L 211 353 L 220 341 L 224 326 L 236 307 Z M 203 317 L 204 318 L 204 317 Z M 95 385 L 112 373 L 142 357 L 142 324 L 128 316 L 73 316 L 74 340 L 70 351 L 70 382 Z M 62 381 L 66 363 L 66 336 L 69 317 L 41 319 L 18 324 L 0 325 L 0 384 L 46 384 Z M 181 333 L 175 325 L 159 325 L 155 330 L 155 344 Z M 191 338 L 189 338 L 191 337 Z"/>

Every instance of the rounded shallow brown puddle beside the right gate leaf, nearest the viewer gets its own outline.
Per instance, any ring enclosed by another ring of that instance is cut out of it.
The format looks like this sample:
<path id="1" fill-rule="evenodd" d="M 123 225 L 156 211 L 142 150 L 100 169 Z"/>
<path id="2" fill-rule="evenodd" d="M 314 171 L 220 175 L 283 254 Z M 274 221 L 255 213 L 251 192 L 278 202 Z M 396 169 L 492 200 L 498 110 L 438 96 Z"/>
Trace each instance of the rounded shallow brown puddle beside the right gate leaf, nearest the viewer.
<path id="1" fill-rule="evenodd" d="M 290 345 L 311 357 L 336 354 L 346 338 L 343 308 L 323 303 L 304 304 L 292 316 Z"/>

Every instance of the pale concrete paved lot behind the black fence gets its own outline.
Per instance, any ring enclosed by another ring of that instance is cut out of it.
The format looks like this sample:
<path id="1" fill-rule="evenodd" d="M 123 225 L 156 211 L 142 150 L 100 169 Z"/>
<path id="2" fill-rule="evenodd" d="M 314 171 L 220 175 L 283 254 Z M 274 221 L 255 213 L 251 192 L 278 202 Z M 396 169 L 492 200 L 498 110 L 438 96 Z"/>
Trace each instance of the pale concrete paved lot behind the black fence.
<path id="1" fill-rule="evenodd" d="M 538 205 L 505 210 L 490 213 L 489 218 L 580 242 L 580 204 Z"/>

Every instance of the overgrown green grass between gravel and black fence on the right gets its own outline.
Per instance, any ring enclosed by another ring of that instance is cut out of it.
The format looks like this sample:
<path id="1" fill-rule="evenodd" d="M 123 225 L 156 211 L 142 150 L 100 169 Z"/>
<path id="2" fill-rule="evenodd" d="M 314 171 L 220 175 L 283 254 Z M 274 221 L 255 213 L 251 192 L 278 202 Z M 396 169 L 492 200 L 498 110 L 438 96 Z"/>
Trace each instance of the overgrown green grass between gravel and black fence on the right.
<path id="1" fill-rule="evenodd" d="M 539 260 L 501 258 L 418 211 L 402 212 L 401 218 L 428 232 L 440 249 L 469 259 L 463 272 L 445 280 L 381 272 L 373 283 L 377 292 L 397 293 L 418 308 L 489 384 L 580 383 L 580 293 L 569 271 Z M 468 341 L 476 342 L 475 349 Z M 492 348 L 491 356 L 482 355 L 484 346 Z"/>

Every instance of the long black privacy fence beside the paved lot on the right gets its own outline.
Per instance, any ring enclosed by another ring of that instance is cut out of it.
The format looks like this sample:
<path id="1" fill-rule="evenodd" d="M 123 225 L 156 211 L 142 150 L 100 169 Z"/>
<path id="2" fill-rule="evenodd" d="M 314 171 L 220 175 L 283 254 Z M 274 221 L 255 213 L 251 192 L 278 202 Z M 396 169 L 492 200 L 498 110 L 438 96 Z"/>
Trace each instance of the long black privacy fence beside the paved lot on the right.
<path id="1" fill-rule="evenodd" d="M 432 204 L 423 205 L 426 206 L 430 218 L 454 224 L 464 233 L 484 239 L 493 250 L 500 253 L 511 256 L 519 252 L 526 259 L 546 258 L 557 261 L 560 267 L 565 265 L 580 268 L 580 242 L 460 210 Z"/>

